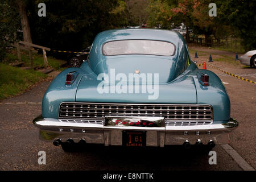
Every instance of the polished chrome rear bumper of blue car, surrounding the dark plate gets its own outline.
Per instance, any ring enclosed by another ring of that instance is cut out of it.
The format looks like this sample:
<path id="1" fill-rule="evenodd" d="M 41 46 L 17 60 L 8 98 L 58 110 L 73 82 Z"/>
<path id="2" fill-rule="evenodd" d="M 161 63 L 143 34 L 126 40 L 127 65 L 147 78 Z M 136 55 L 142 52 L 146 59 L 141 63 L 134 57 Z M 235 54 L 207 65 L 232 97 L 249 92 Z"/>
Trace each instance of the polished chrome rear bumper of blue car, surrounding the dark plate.
<path id="1" fill-rule="evenodd" d="M 61 122 L 59 119 L 42 116 L 35 118 L 33 123 L 40 129 L 40 138 L 47 141 L 58 138 L 65 141 L 72 138 L 78 142 L 83 138 L 86 143 L 122 146 L 123 130 L 141 130 L 147 131 L 146 146 L 154 147 L 183 144 L 185 140 L 195 144 L 198 139 L 203 144 L 207 144 L 209 140 L 213 140 L 216 144 L 227 144 L 230 142 L 229 133 L 238 126 L 238 122 L 232 118 L 229 122 L 217 125 L 164 127 L 104 126 L 99 123 Z"/>

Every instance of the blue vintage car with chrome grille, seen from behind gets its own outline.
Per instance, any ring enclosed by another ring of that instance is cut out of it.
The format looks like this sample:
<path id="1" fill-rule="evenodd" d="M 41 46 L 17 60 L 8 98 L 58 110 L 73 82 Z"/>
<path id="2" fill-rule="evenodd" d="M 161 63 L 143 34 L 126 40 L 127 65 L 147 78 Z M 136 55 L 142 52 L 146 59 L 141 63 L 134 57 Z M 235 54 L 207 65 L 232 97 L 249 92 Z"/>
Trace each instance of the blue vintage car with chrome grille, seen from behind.
<path id="1" fill-rule="evenodd" d="M 144 28 L 98 34 L 88 60 L 51 82 L 33 123 L 41 139 L 64 150 L 87 143 L 214 147 L 230 142 L 238 126 L 220 78 L 197 68 L 183 37 Z"/>

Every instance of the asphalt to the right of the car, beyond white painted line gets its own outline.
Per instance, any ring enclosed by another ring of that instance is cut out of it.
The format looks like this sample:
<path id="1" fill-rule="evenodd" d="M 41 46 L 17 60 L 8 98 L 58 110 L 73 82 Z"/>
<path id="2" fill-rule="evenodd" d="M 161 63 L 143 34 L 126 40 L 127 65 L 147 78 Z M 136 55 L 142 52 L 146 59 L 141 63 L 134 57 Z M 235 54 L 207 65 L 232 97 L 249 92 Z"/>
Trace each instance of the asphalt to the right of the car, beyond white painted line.
<path id="1" fill-rule="evenodd" d="M 216 50 L 205 50 L 197 49 L 202 51 L 208 51 L 209 53 L 214 52 Z M 220 51 L 222 55 L 224 55 L 225 51 Z M 227 56 L 230 56 L 230 52 L 226 53 Z M 194 59 L 195 55 L 191 55 L 192 60 L 197 60 L 198 63 L 203 63 L 206 61 L 207 64 L 212 64 L 224 71 L 229 73 L 236 74 L 238 76 L 247 78 L 252 81 L 256 81 L 256 69 L 245 67 L 240 64 L 237 66 L 230 65 L 223 62 L 214 61 L 214 57 L 217 55 L 212 55 L 213 62 L 209 63 L 209 55 L 207 56 L 199 56 L 198 59 Z M 233 57 L 235 55 L 233 54 Z M 199 67 L 203 68 L 203 67 Z M 231 103 L 231 113 L 230 116 L 232 118 L 237 119 L 240 123 L 240 126 L 237 130 L 232 134 L 232 143 L 230 146 L 234 148 L 242 156 L 243 159 L 246 160 L 254 169 L 256 168 L 256 146 L 255 146 L 255 138 L 256 138 L 256 84 L 252 84 L 250 82 L 246 82 L 240 80 L 238 78 L 232 77 L 214 69 L 212 67 L 207 66 L 207 69 L 216 73 L 221 81 L 224 83 L 225 88 L 229 94 L 230 103 Z"/>

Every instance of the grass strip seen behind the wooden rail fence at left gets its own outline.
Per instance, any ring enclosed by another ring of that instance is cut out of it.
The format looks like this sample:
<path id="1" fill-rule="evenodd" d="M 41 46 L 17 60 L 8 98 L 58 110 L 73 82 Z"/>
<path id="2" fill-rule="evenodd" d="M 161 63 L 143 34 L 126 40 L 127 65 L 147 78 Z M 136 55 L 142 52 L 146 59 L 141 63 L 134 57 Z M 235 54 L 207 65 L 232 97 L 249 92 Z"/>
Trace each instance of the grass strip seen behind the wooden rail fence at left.
<path id="1" fill-rule="evenodd" d="M 30 57 L 28 56 L 28 51 L 21 51 L 22 62 L 24 66 L 30 67 Z M 32 53 L 33 65 L 34 67 L 44 67 L 43 55 L 38 53 Z M 6 53 L 5 63 L 13 63 L 18 60 L 18 53 L 14 50 Z M 47 56 L 49 67 L 53 69 L 60 69 L 60 65 L 63 63 L 67 63 L 64 60 L 58 60 L 51 56 Z"/>

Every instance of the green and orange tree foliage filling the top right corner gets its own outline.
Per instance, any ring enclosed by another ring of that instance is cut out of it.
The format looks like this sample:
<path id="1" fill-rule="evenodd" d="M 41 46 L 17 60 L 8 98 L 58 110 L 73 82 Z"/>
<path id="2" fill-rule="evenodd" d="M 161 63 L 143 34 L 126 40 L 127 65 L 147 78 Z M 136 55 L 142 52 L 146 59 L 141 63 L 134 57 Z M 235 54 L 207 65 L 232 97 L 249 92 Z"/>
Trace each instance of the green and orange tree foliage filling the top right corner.
<path id="1" fill-rule="evenodd" d="M 209 3 L 217 5 L 217 16 L 210 17 Z M 206 42 L 213 35 L 218 41 L 226 36 L 240 36 L 247 49 L 256 47 L 256 0 L 151 0 L 148 6 L 151 27 L 172 28 L 185 23 L 196 35 L 204 35 Z"/>

